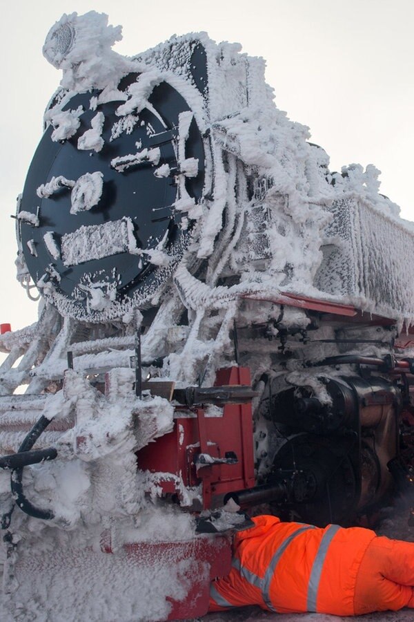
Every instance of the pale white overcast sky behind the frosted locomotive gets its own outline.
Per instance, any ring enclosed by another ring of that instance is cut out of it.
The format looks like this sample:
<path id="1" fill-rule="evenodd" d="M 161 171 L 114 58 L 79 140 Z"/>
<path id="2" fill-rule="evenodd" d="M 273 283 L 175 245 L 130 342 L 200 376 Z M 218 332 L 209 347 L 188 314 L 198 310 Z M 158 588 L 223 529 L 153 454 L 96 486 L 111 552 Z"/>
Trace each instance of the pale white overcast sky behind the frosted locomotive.
<path id="1" fill-rule="evenodd" d="M 124 26 L 115 46 L 124 55 L 206 30 L 264 57 L 277 106 L 309 126 L 331 170 L 375 164 L 380 191 L 414 220 L 414 0 L 14 0 L 0 20 L 1 323 L 16 329 L 37 318 L 37 303 L 15 280 L 10 214 L 61 78 L 41 48 L 63 13 L 88 10 Z"/>

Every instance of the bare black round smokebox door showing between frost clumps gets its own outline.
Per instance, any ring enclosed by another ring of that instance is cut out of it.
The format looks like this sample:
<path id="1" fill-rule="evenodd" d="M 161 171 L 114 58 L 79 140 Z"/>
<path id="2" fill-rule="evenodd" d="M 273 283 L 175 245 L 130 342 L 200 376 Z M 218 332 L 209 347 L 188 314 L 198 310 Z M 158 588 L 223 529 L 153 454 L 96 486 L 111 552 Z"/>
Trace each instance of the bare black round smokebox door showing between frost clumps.
<path id="1" fill-rule="evenodd" d="M 137 74 L 132 74 L 124 78 L 120 88 L 125 89 L 136 77 Z M 43 241 L 47 232 L 53 232 L 59 245 L 63 236 L 79 232 L 81 227 L 102 225 L 128 217 L 134 224 L 139 247 L 153 249 L 166 236 L 165 249 L 172 256 L 182 254 L 188 237 L 188 229 L 179 227 L 183 215 L 172 207 L 177 199 L 177 186 L 173 177 L 157 178 L 154 175 L 155 168 L 149 164 L 132 167 L 125 172 L 110 167 L 113 158 L 136 153 L 138 142 L 139 150 L 159 148 L 159 164 L 177 168 L 179 113 L 189 110 L 184 98 L 172 86 L 162 82 L 149 97 L 152 110 L 144 108 L 139 113 L 139 122 L 130 133 L 124 131 L 119 138 L 110 140 L 112 129 L 120 120 L 116 110 L 123 102 L 108 102 L 98 105 L 96 110 L 90 110 L 92 95 L 96 97 L 99 93 L 75 95 L 63 106 L 63 110 L 83 107 L 79 117 L 81 126 L 72 138 L 64 142 L 52 142 L 52 127 L 43 135 L 28 171 L 20 207 L 20 211 L 39 214 L 39 227 L 24 220 L 19 223 L 23 252 L 32 279 L 39 281 L 44 274 L 48 274 L 52 265 L 60 281 L 53 276 L 47 276 L 46 279 L 52 280 L 58 292 L 66 294 L 70 299 L 79 299 L 83 306 L 87 301 L 85 294 L 79 291 L 79 284 L 85 281 L 110 283 L 116 286 L 119 300 L 124 296 L 131 297 L 148 286 L 154 279 L 157 266 L 148 261 L 148 256 L 140 258 L 130 252 L 109 254 L 77 265 L 64 265 L 61 258 L 55 259 L 48 252 Z M 90 129 L 91 120 L 98 112 L 105 117 L 103 148 L 98 153 L 93 150 L 79 151 L 78 139 Z M 197 158 L 199 161 L 197 177 L 186 178 L 186 191 L 199 200 L 204 187 L 204 144 L 194 119 L 185 151 L 186 158 Z M 36 194 L 37 188 L 54 176 L 62 175 L 76 181 L 83 174 L 95 171 L 103 173 L 103 193 L 99 203 L 87 211 L 70 214 L 68 188 L 61 189 L 49 198 L 39 198 Z M 37 256 L 30 253 L 29 241 L 33 241 Z"/>

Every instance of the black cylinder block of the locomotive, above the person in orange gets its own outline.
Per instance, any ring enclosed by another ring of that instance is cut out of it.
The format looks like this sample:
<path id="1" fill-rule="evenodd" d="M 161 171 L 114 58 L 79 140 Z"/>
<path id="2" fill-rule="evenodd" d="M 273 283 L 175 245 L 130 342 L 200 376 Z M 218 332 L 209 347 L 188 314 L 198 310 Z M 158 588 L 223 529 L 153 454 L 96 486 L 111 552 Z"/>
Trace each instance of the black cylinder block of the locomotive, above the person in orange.
<path id="1" fill-rule="evenodd" d="M 396 417 L 402 396 L 382 377 L 318 380 L 329 397 L 325 402 L 312 388 L 289 388 L 262 400 L 262 413 L 286 438 L 268 484 L 284 472 L 306 473 L 306 481 L 289 487 L 284 509 L 326 525 L 371 511 L 380 491 L 389 489 L 384 460 L 388 456 L 392 463 L 398 457 Z"/>

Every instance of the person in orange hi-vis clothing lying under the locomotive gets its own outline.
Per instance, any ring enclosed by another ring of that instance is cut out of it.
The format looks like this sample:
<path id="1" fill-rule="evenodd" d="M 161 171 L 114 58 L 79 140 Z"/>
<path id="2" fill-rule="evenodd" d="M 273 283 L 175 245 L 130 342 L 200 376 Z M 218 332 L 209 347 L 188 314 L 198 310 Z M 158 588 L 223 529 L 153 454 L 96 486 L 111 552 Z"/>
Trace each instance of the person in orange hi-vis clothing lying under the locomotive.
<path id="1" fill-rule="evenodd" d="M 235 535 L 230 574 L 211 583 L 210 611 L 259 605 L 352 616 L 414 608 L 414 543 L 362 527 L 252 520 Z"/>

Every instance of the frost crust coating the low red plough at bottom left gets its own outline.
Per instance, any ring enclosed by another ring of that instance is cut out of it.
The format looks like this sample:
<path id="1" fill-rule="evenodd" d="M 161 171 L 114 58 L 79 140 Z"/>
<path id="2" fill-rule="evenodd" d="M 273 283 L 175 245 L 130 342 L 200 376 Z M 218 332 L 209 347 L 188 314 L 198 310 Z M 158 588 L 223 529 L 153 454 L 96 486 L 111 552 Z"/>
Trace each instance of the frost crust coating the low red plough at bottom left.
<path id="1" fill-rule="evenodd" d="M 171 610 L 168 599 L 184 599 L 195 575 L 208 579 L 208 566 L 177 558 L 175 549 L 168 556 L 148 551 L 135 558 L 58 546 L 52 554 L 22 556 L 18 603 L 6 597 L 0 603 L 1 618 L 163 621 Z"/>

